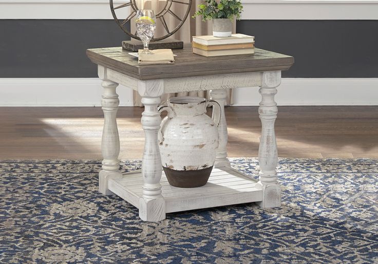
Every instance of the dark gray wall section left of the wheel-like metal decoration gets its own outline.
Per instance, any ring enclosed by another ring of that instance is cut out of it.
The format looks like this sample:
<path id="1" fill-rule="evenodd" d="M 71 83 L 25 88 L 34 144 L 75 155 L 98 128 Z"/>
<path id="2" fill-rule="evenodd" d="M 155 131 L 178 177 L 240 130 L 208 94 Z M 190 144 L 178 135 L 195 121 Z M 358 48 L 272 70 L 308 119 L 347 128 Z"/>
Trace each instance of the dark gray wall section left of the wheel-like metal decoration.
<path id="1" fill-rule="evenodd" d="M 97 77 L 89 48 L 130 37 L 113 20 L 0 20 L 0 77 Z"/>

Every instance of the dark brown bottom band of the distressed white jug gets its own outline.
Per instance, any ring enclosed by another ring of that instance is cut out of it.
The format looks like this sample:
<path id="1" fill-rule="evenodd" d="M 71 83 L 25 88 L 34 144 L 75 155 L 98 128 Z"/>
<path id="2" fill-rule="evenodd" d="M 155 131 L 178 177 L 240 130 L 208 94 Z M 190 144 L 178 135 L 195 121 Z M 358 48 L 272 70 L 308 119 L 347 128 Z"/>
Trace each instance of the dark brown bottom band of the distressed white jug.
<path id="1" fill-rule="evenodd" d="M 163 167 L 170 185 L 180 188 L 195 188 L 204 186 L 209 180 L 213 166 L 194 171 L 177 171 Z"/>

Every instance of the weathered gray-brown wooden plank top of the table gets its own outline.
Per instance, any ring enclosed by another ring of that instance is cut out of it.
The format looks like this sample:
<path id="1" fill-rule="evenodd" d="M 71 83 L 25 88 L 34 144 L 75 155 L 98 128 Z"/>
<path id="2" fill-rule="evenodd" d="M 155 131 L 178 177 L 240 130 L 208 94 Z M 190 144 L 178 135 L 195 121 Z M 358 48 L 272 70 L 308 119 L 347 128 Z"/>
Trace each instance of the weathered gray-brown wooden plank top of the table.
<path id="1" fill-rule="evenodd" d="M 146 80 L 256 71 L 288 70 L 294 57 L 255 48 L 253 55 L 204 57 L 192 53 L 191 44 L 174 49 L 175 64 L 138 65 L 138 59 L 122 47 L 88 49 L 87 56 L 98 65 Z"/>

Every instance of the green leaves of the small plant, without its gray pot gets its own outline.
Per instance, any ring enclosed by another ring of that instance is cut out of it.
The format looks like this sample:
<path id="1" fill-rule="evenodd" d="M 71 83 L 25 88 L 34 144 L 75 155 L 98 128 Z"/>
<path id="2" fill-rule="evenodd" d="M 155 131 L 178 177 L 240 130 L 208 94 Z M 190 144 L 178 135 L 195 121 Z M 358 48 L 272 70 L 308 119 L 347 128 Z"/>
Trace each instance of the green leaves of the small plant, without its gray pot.
<path id="1" fill-rule="evenodd" d="M 243 6 L 240 0 L 204 0 L 193 17 L 202 16 L 202 21 L 215 18 L 240 19 Z"/>

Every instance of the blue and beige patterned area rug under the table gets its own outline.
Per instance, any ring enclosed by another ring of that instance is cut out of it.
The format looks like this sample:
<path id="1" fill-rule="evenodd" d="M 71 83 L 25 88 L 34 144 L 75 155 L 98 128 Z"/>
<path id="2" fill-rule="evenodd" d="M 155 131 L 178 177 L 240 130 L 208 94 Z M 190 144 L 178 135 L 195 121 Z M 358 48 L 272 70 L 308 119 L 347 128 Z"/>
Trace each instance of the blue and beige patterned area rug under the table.
<path id="1" fill-rule="evenodd" d="M 150 223 L 98 192 L 99 160 L 0 161 L 0 261 L 377 263 L 377 163 L 282 158 L 280 208 L 244 204 Z M 257 175 L 255 158 L 232 165 Z M 139 166 L 122 161 L 124 171 Z"/>

